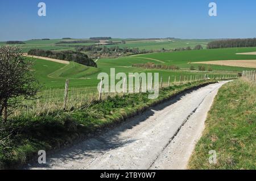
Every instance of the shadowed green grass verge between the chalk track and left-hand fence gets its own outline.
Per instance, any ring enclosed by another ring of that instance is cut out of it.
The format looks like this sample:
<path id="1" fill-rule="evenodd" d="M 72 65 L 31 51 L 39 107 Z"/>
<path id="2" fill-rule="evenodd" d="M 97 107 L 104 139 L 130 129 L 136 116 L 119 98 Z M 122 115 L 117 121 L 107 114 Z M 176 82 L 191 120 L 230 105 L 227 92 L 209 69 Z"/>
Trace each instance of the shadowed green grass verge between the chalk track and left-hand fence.
<path id="1" fill-rule="evenodd" d="M 58 110 L 39 116 L 13 118 L 7 124 L 1 124 L 0 169 L 22 165 L 36 157 L 39 150 L 57 150 L 71 145 L 88 134 L 113 127 L 182 91 L 209 83 L 214 81 L 163 88 L 157 99 L 148 99 L 148 93 L 117 95 L 68 112 Z"/>

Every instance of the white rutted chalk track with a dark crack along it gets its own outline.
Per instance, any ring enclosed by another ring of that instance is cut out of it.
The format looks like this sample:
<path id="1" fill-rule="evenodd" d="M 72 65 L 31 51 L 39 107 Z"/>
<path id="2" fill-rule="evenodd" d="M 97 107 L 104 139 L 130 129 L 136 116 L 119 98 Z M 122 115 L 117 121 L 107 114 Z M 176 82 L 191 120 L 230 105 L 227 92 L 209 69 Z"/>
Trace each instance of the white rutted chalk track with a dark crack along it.
<path id="1" fill-rule="evenodd" d="M 218 89 L 185 92 L 25 169 L 185 169 Z"/>

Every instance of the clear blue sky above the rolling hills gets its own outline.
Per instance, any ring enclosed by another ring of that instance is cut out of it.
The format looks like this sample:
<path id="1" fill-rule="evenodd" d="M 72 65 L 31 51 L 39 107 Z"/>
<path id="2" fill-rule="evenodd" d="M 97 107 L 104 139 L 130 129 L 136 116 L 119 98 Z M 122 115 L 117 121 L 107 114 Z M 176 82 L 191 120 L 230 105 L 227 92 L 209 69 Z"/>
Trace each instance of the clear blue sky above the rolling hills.
<path id="1" fill-rule="evenodd" d="M 38 16 L 38 3 L 46 15 Z M 208 15 L 217 3 L 217 16 Z M 1 0 L 0 41 L 40 38 L 256 37 L 255 0 Z"/>

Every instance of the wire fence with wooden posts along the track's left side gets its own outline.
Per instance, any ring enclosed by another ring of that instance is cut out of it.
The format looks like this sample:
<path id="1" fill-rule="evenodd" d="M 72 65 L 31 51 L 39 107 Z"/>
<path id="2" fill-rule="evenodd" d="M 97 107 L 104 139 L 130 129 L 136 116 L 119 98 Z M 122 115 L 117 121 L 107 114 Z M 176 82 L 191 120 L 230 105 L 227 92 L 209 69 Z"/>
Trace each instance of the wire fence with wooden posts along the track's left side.
<path id="1" fill-rule="evenodd" d="M 191 74 L 191 75 L 176 75 L 169 77 L 159 77 L 159 89 L 169 86 L 185 85 L 188 83 L 205 81 L 208 79 L 225 80 L 237 78 L 237 74 L 223 74 L 223 75 L 213 75 L 213 74 Z M 42 113 L 51 113 L 56 110 L 74 110 L 80 109 L 85 105 L 92 103 L 95 100 L 105 100 L 107 98 L 115 95 L 130 94 L 128 89 L 123 89 L 123 92 L 102 92 L 98 91 L 98 87 L 69 87 L 69 82 L 72 80 L 67 80 L 63 89 L 48 89 L 39 92 L 38 99 L 35 100 L 22 100 L 22 103 L 12 113 L 12 116 L 19 115 L 36 115 L 40 116 Z M 99 83 L 102 86 L 102 83 Z M 127 84 L 123 83 L 123 85 Z M 139 81 L 139 92 L 146 88 L 143 86 L 141 79 Z M 148 83 L 146 83 L 148 88 Z M 152 86 L 152 85 L 150 85 Z M 149 86 L 149 87 L 150 87 Z"/>

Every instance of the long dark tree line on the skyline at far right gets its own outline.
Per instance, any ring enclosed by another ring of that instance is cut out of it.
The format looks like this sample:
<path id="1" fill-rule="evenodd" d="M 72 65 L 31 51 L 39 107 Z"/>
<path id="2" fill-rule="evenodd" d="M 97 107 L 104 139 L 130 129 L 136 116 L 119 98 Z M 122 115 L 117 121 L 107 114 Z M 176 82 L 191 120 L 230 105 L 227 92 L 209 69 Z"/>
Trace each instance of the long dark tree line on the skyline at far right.
<path id="1" fill-rule="evenodd" d="M 208 49 L 214 48 L 239 48 L 239 47 L 256 47 L 256 38 L 253 39 L 226 39 L 215 40 L 208 43 Z"/>

